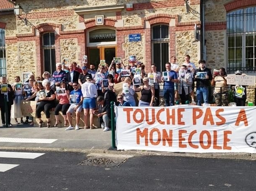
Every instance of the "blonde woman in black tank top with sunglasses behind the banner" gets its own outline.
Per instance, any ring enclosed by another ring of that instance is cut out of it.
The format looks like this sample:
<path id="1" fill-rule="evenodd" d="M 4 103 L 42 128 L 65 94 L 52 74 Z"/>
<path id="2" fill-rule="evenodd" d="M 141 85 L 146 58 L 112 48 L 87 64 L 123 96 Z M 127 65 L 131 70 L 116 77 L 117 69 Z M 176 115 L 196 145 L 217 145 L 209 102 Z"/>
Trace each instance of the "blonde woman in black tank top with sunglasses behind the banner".
<path id="1" fill-rule="evenodd" d="M 135 85 L 133 85 L 134 91 L 142 92 L 142 96 L 139 100 L 139 106 L 153 106 L 153 102 L 154 102 L 154 98 L 155 98 L 155 96 L 154 96 L 155 89 L 154 89 L 154 87 L 149 85 L 148 77 L 143 78 L 143 83 L 144 83 L 144 85 L 142 85 L 140 87 L 135 87 Z"/>

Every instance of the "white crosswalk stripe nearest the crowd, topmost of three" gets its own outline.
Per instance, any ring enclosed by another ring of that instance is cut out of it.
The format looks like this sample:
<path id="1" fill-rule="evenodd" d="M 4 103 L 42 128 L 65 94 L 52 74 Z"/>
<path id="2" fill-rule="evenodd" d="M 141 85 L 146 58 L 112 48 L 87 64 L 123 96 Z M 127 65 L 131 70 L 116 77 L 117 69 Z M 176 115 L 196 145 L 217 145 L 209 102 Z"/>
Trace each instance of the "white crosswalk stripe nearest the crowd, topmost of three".
<path id="1" fill-rule="evenodd" d="M 53 143 L 57 139 L 27 139 L 27 138 L 7 138 L 0 137 L 0 142 L 9 143 Z"/>

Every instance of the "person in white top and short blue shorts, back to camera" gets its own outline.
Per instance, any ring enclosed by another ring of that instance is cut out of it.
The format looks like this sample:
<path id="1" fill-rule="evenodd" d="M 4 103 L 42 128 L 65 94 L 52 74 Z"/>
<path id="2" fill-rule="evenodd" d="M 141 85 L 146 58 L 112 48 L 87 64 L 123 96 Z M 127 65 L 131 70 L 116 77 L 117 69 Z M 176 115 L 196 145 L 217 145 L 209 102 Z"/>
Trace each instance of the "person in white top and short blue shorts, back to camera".
<path id="1" fill-rule="evenodd" d="M 98 97 L 97 87 L 92 83 L 91 76 L 86 77 L 86 82 L 82 84 L 82 94 L 83 94 L 83 108 L 84 108 L 84 123 L 85 129 L 88 129 L 87 118 L 90 116 L 90 128 L 93 129 L 93 113 L 92 111 L 96 108 L 96 98 Z"/>

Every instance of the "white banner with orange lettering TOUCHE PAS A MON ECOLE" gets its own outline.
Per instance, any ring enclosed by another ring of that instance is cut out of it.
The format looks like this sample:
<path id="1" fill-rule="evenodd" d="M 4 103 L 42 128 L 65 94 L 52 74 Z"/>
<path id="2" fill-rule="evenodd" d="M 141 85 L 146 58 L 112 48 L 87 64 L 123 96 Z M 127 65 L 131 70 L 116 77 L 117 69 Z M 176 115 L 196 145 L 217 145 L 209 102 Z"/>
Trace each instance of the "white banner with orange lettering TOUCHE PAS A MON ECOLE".
<path id="1" fill-rule="evenodd" d="M 117 107 L 117 150 L 256 153 L 256 106 Z"/>

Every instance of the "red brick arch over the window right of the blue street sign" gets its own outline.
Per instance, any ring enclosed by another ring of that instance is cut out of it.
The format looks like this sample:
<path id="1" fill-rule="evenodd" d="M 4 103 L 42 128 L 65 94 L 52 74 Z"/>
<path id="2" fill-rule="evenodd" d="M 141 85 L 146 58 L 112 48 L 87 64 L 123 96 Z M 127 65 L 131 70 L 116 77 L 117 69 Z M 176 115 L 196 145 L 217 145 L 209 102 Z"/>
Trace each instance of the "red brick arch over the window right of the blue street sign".
<path id="1" fill-rule="evenodd" d="M 178 21 L 178 15 L 170 15 L 170 14 L 156 14 L 156 15 L 151 15 L 149 17 L 146 17 L 144 20 L 149 21 L 150 24 L 155 24 L 155 23 L 170 23 L 171 19 L 175 19 L 175 21 Z"/>

